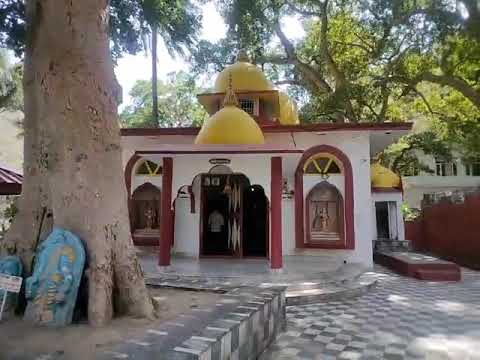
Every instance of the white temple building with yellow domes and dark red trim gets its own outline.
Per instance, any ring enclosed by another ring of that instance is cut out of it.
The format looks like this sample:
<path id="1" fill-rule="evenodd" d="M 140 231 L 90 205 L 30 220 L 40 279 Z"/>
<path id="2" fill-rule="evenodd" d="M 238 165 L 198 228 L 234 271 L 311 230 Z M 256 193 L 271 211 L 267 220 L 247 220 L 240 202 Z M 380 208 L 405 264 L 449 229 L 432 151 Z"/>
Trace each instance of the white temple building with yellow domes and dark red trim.
<path id="1" fill-rule="evenodd" d="M 299 122 L 294 103 L 240 56 L 198 95 L 201 128 L 122 129 L 137 245 L 171 256 L 328 256 L 372 264 L 372 240 L 404 239 L 400 179 L 370 159 L 408 123 Z"/>

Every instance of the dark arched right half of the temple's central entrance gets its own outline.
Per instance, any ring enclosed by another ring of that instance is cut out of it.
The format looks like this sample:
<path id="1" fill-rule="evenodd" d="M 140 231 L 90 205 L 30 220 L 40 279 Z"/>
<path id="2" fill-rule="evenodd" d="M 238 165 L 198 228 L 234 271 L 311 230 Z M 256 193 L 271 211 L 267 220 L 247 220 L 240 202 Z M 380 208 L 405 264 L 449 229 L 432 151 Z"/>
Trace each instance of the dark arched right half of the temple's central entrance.
<path id="1" fill-rule="evenodd" d="M 243 256 L 268 255 L 268 201 L 260 185 L 243 192 Z"/>

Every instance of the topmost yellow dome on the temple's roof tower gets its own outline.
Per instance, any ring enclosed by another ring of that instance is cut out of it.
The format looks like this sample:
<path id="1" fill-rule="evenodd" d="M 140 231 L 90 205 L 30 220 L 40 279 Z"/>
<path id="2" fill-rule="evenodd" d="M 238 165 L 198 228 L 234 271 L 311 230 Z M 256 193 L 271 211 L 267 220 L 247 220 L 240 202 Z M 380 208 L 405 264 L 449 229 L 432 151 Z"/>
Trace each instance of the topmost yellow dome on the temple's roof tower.
<path id="1" fill-rule="evenodd" d="M 262 70 L 246 61 L 237 61 L 227 66 L 218 74 L 215 80 L 215 92 L 225 92 L 232 77 L 234 91 L 265 91 L 273 90 L 273 85 L 267 80 Z"/>

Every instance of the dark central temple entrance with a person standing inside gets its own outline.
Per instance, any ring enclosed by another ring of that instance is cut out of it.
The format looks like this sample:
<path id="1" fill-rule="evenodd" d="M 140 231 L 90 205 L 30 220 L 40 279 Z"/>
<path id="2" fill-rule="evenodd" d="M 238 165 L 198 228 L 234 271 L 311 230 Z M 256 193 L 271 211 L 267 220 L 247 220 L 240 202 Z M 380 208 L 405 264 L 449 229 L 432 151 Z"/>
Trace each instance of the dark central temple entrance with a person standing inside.
<path id="1" fill-rule="evenodd" d="M 268 204 L 263 188 L 242 174 L 203 174 L 200 254 L 268 255 Z"/>

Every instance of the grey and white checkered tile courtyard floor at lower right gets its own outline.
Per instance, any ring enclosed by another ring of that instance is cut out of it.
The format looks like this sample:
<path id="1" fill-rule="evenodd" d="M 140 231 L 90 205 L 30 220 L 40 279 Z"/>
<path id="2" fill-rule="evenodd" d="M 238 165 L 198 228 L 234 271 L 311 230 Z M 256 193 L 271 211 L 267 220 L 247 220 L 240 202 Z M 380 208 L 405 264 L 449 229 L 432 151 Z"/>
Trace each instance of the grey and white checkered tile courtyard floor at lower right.
<path id="1" fill-rule="evenodd" d="M 261 360 L 480 359 L 480 272 L 459 283 L 375 272 L 360 298 L 288 307 L 287 331 Z"/>

